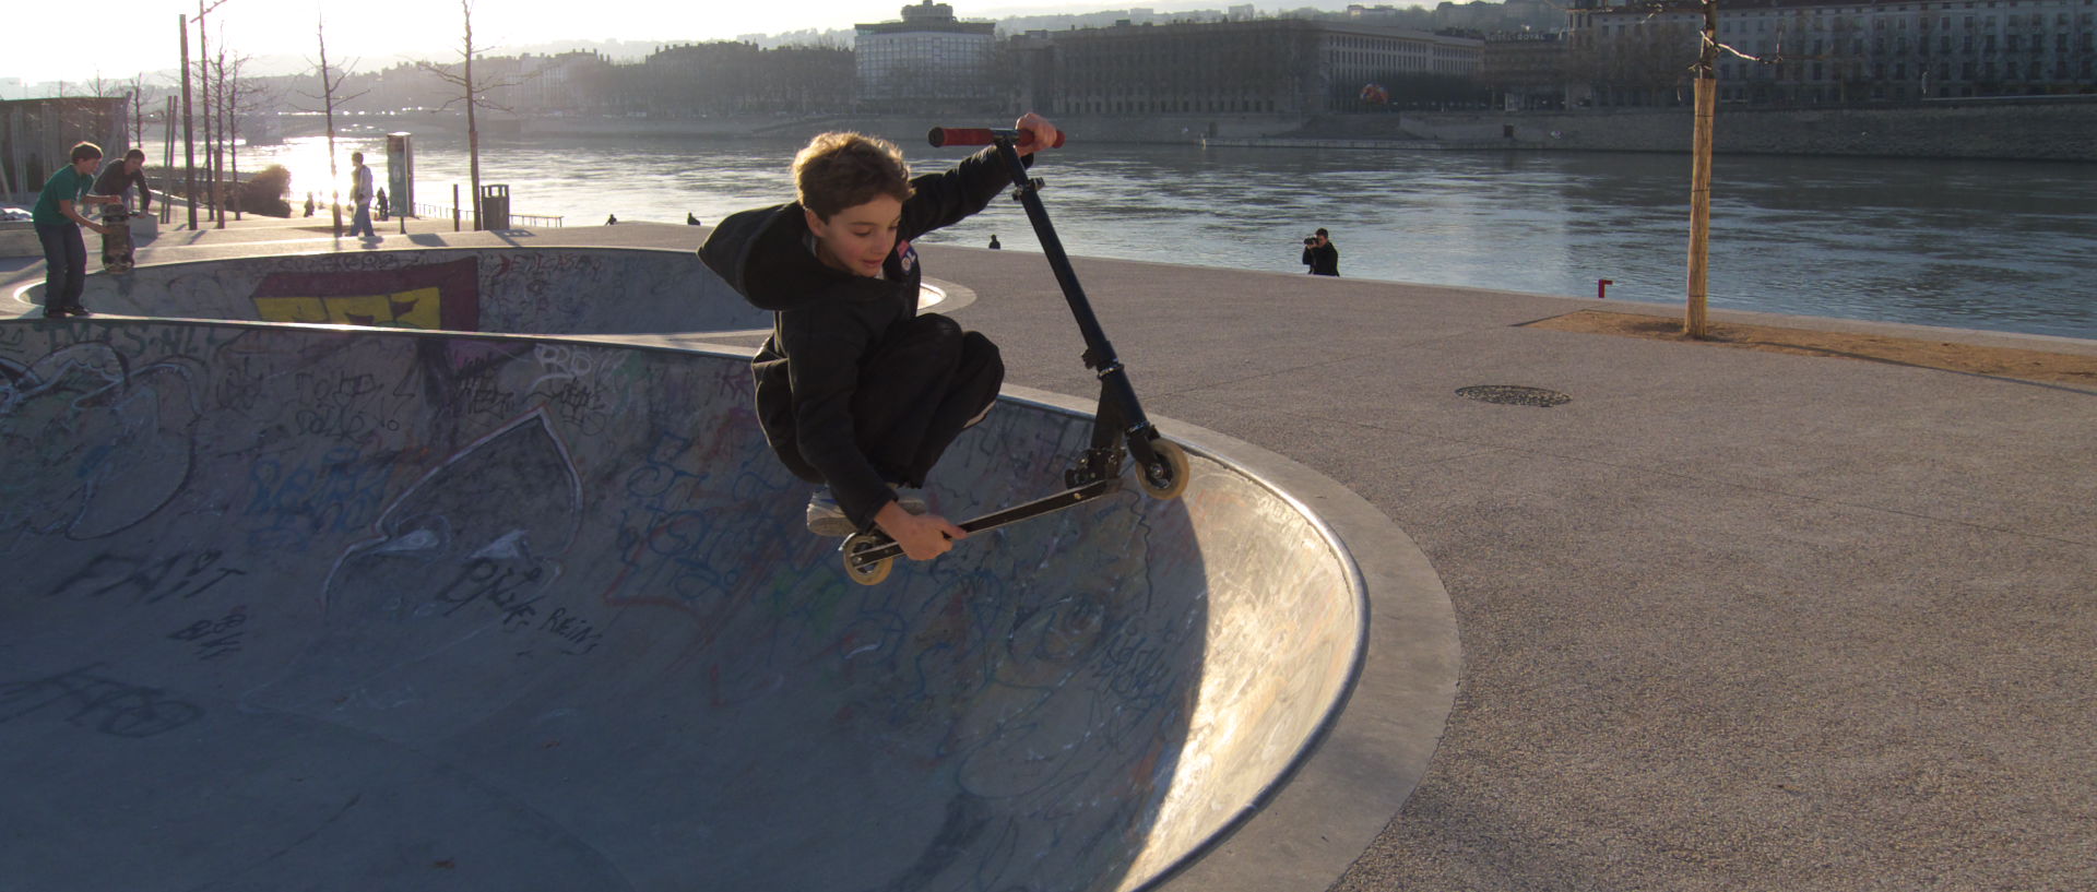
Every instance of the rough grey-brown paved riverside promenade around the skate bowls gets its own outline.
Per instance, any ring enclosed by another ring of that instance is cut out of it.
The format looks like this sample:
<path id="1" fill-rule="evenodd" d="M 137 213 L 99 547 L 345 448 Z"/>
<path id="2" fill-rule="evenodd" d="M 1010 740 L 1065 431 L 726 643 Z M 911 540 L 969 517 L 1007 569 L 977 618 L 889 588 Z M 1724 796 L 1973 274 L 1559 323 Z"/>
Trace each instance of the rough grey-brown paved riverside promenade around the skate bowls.
<path id="1" fill-rule="evenodd" d="M 140 264 L 361 249 L 298 224 L 164 230 Z M 445 222 L 382 249 L 702 232 Z M 1097 392 L 1040 255 L 921 253 L 1009 383 Z M 1145 408 L 1346 486 L 1447 588 L 1455 708 L 1386 829 L 1327 840 L 1332 888 L 2097 888 L 2097 387 L 1522 327 L 1617 302 L 1076 268 Z M 4 293 L 40 276 L 0 260 Z"/>

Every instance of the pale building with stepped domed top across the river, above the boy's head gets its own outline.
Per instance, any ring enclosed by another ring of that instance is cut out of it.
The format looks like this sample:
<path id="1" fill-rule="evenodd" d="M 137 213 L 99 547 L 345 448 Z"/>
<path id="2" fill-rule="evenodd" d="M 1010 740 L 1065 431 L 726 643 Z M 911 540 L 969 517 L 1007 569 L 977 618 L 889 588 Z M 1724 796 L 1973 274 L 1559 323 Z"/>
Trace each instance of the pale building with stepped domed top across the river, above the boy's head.
<path id="1" fill-rule="evenodd" d="M 1000 105 L 996 23 L 958 21 L 954 6 L 923 0 L 902 21 L 856 25 L 860 101 L 872 109 L 942 111 Z"/>

